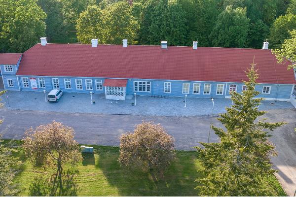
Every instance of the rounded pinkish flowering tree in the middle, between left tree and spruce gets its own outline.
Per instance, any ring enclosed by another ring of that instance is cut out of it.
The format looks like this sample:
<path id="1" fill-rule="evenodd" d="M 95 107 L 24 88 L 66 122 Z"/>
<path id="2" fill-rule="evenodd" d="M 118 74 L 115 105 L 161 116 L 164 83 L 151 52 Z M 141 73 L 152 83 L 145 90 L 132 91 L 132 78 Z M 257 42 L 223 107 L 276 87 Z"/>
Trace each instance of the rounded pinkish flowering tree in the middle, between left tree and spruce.
<path id="1" fill-rule="evenodd" d="M 160 124 L 143 122 L 134 133 L 120 137 L 119 162 L 123 165 L 162 174 L 174 159 L 174 138 Z"/>

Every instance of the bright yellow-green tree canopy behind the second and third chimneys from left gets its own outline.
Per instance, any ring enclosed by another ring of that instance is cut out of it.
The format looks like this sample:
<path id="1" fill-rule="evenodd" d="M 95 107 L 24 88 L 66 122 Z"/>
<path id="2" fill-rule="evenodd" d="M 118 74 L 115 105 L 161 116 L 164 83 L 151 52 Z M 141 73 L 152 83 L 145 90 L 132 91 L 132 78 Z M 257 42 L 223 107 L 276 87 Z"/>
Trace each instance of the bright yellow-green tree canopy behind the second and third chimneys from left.
<path id="1" fill-rule="evenodd" d="M 130 5 L 120 1 L 103 10 L 98 6 L 89 6 L 80 14 L 76 29 L 77 38 L 82 43 L 98 38 L 102 44 L 122 44 L 122 39 L 136 44 L 139 25 Z"/>

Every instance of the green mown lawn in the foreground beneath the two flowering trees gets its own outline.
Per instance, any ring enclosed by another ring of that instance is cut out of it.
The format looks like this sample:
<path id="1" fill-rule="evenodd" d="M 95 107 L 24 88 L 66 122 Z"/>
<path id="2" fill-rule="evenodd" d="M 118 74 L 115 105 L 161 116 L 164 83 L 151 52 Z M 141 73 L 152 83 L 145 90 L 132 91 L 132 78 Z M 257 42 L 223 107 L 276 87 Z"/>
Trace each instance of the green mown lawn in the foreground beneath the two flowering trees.
<path id="1" fill-rule="evenodd" d="M 17 141 L 17 144 L 20 142 Z M 177 151 L 177 160 L 165 172 L 165 178 L 153 181 L 150 173 L 129 170 L 118 163 L 119 148 L 94 146 L 94 154 L 83 155 L 74 175 L 65 176 L 63 187 L 68 196 L 198 196 L 194 188 L 201 177 L 201 166 L 194 151 Z M 20 189 L 19 196 L 38 196 L 51 190 L 49 178 L 55 173 L 52 167 L 33 167 L 19 148 L 18 157 L 24 162 L 14 182 Z M 70 167 L 65 166 L 66 172 Z M 266 179 L 277 196 L 285 192 L 272 176 Z M 40 193 L 41 191 L 41 193 Z"/>

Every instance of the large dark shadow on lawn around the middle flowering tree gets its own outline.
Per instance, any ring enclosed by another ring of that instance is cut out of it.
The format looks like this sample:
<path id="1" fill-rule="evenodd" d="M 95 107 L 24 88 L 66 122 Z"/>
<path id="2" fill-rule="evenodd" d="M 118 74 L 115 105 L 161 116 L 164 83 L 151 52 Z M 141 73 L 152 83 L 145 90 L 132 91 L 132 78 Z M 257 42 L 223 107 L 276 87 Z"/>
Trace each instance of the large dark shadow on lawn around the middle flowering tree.
<path id="1" fill-rule="evenodd" d="M 117 161 L 119 148 L 99 147 L 97 151 L 96 166 L 120 196 L 198 196 L 194 180 L 202 174 L 196 152 L 177 151 L 177 160 L 165 171 L 164 179 L 153 181 L 149 172 L 121 167 Z"/>

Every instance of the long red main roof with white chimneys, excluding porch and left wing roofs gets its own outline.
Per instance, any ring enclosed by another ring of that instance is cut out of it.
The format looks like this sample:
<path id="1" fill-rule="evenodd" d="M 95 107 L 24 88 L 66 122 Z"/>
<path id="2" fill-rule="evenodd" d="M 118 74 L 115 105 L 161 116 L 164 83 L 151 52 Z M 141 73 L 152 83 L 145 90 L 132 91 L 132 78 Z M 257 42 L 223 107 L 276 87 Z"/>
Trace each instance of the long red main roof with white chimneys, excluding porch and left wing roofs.
<path id="1" fill-rule="evenodd" d="M 254 57 L 258 83 L 296 84 L 271 50 L 213 47 L 37 44 L 23 53 L 17 74 L 242 82 Z"/>

